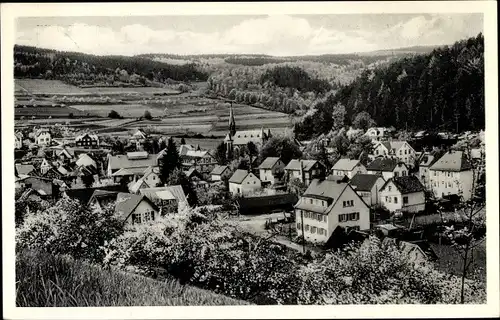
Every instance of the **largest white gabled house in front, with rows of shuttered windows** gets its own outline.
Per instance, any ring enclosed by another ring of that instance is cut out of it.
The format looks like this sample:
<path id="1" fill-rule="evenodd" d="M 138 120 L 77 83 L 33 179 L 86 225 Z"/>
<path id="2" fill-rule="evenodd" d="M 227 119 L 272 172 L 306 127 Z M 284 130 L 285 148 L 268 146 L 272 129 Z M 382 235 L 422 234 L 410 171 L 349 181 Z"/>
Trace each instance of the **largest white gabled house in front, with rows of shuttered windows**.
<path id="1" fill-rule="evenodd" d="M 345 182 L 314 179 L 295 205 L 296 229 L 306 241 L 326 243 L 338 227 L 370 228 L 370 208 Z"/>

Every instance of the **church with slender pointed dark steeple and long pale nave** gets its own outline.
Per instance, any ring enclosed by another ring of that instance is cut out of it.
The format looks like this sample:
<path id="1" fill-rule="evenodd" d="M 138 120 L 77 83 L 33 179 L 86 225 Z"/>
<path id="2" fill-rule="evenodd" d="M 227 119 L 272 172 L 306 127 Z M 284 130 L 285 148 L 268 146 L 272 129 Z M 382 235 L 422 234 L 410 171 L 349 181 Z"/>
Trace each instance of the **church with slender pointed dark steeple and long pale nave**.
<path id="1" fill-rule="evenodd" d="M 231 103 L 229 109 L 229 133 L 224 138 L 226 149 L 231 151 L 238 151 L 242 146 L 246 146 L 250 141 L 257 147 L 262 147 L 264 143 L 271 138 L 271 130 L 267 129 L 254 129 L 254 130 L 241 130 L 236 131 L 236 122 L 234 120 L 233 104 Z"/>

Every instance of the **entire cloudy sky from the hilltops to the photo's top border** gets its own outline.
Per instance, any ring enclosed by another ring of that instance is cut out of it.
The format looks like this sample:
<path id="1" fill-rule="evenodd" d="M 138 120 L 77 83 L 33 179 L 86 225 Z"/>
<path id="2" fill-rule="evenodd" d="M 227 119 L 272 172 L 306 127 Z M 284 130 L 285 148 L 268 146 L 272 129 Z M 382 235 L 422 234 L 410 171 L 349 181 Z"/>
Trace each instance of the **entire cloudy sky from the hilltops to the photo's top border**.
<path id="1" fill-rule="evenodd" d="M 482 14 L 24 17 L 16 43 L 96 55 L 369 52 L 447 45 L 483 32 Z"/>

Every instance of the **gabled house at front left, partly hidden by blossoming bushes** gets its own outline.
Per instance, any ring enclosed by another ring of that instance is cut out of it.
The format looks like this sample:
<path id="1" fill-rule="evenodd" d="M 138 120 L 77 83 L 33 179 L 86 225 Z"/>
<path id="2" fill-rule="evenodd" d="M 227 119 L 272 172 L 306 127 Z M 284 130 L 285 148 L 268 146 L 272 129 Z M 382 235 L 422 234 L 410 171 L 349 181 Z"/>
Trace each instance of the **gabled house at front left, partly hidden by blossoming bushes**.
<path id="1" fill-rule="evenodd" d="M 158 207 L 148 197 L 124 192 L 116 196 L 115 212 L 126 224 L 143 224 L 160 216 Z"/>

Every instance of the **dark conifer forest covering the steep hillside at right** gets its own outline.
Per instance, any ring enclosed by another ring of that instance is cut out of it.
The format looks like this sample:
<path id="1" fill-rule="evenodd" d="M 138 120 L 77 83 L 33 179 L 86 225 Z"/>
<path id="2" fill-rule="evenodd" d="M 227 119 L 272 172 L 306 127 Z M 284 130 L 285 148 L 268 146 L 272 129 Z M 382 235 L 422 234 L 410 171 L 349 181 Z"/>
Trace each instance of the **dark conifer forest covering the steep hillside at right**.
<path id="1" fill-rule="evenodd" d="M 335 94 L 315 101 L 313 112 L 296 125 L 296 134 L 328 133 L 339 106 L 345 108 L 346 124 L 365 111 L 377 125 L 396 129 L 484 129 L 483 35 L 364 70 Z"/>

